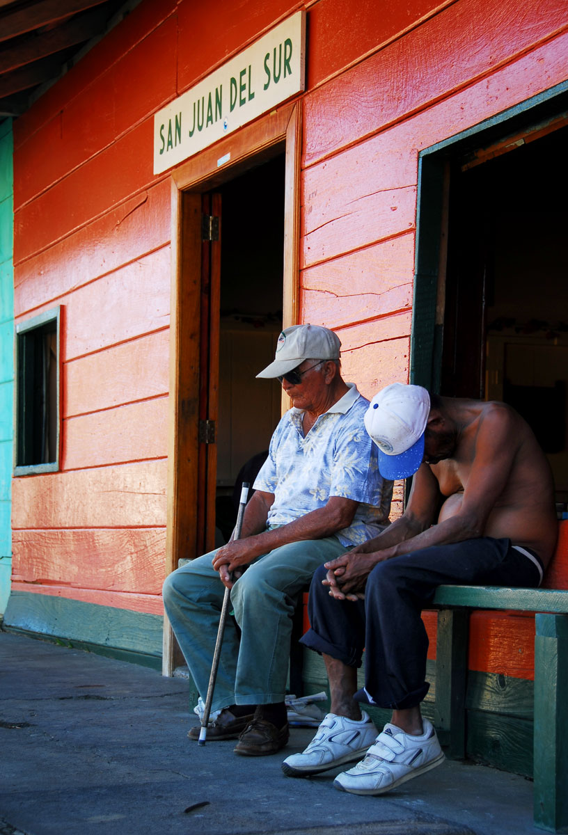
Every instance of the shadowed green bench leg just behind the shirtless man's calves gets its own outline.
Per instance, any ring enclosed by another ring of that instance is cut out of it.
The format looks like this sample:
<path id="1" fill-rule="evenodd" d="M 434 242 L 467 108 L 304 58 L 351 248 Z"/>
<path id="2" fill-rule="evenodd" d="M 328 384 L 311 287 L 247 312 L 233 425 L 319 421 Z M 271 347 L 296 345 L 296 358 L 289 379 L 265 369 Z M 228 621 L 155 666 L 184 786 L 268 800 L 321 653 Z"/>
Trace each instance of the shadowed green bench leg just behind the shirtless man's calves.
<path id="1" fill-rule="evenodd" d="M 465 757 L 465 686 L 468 671 L 469 610 L 438 613 L 434 726 L 450 759 Z"/>

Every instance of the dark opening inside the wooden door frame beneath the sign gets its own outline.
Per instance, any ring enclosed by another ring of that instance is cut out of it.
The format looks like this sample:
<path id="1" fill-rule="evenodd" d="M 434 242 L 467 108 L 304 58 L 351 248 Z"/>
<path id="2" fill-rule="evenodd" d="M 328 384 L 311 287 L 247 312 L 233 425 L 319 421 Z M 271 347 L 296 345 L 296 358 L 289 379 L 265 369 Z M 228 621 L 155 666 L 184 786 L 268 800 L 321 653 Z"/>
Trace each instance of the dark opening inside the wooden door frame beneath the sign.
<path id="1" fill-rule="evenodd" d="M 230 180 L 221 195 L 215 544 L 228 541 L 243 480 L 266 458 L 281 387 L 257 380 L 282 328 L 284 154 Z M 246 473 L 246 477 L 243 475 Z"/>

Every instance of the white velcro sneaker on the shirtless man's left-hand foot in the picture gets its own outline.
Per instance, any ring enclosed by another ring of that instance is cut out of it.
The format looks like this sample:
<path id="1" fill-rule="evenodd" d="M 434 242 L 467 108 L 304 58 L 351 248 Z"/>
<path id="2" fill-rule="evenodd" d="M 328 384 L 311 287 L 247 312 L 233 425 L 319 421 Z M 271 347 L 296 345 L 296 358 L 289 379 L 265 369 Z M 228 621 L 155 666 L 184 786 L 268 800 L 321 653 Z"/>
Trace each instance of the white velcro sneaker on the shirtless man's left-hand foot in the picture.
<path id="1" fill-rule="evenodd" d="M 282 771 L 287 777 L 307 777 L 358 760 L 377 736 L 368 714 L 361 712 L 358 721 L 328 713 L 306 750 L 287 757 Z"/>

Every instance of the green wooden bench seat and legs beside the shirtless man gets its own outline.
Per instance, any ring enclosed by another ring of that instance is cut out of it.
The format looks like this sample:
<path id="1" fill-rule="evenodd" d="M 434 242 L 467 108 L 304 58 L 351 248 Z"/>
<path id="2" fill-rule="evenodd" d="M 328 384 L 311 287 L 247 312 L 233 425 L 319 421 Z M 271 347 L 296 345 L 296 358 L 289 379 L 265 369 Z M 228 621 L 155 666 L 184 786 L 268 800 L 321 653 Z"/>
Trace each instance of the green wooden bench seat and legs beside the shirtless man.
<path id="1" fill-rule="evenodd" d="M 465 756 L 469 613 L 535 613 L 533 777 L 535 826 L 568 827 L 568 590 L 441 585 L 434 726 L 449 757 Z"/>

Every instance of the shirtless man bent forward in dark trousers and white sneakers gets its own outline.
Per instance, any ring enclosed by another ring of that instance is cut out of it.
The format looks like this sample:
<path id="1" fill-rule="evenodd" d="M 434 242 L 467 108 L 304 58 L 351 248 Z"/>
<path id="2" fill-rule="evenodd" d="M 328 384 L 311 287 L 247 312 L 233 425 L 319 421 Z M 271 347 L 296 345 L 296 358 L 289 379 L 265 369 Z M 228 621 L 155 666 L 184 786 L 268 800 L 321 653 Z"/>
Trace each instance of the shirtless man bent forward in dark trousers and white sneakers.
<path id="1" fill-rule="evenodd" d="M 557 523 L 545 455 L 504 403 L 438 397 L 393 383 L 373 397 L 365 426 L 378 446 L 383 478 L 415 473 L 412 490 L 403 516 L 314 574 L 312 628 L 302 643 L 323 655 L 332 712 L 282 770 L 304 777 L 367 752 L 334 785 L 377 795 L 444 760 L 420 712 L 429 689 L 420 613 L 436 587 L 538 586 Z M 365 686 L 358 691 L 363 647 Z M 378 736 L 360 702 L 392 708 Z"/>

